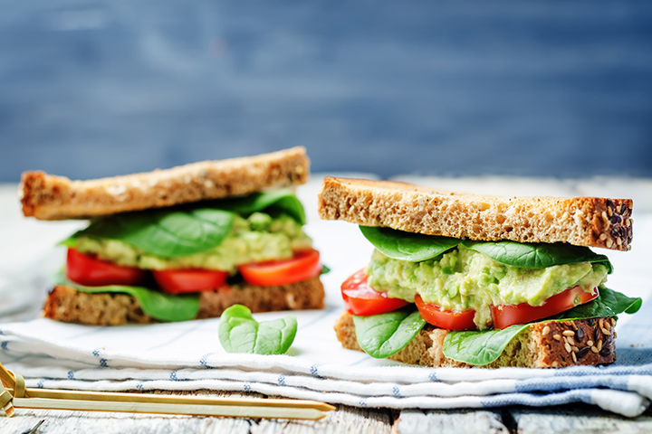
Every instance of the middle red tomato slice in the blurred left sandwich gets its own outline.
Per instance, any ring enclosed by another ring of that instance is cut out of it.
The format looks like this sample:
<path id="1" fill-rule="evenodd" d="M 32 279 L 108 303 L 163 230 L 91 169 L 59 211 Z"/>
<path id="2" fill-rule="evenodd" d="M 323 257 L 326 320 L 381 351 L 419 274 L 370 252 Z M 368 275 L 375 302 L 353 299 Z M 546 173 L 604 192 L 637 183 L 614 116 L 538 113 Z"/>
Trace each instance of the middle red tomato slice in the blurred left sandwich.
<path id="1" fill-rule="evenodd" d="M 165 292 L 178 294 L 223 287 L 228 272 L 214 269 L 152 269 L 152 275 Z"/>

